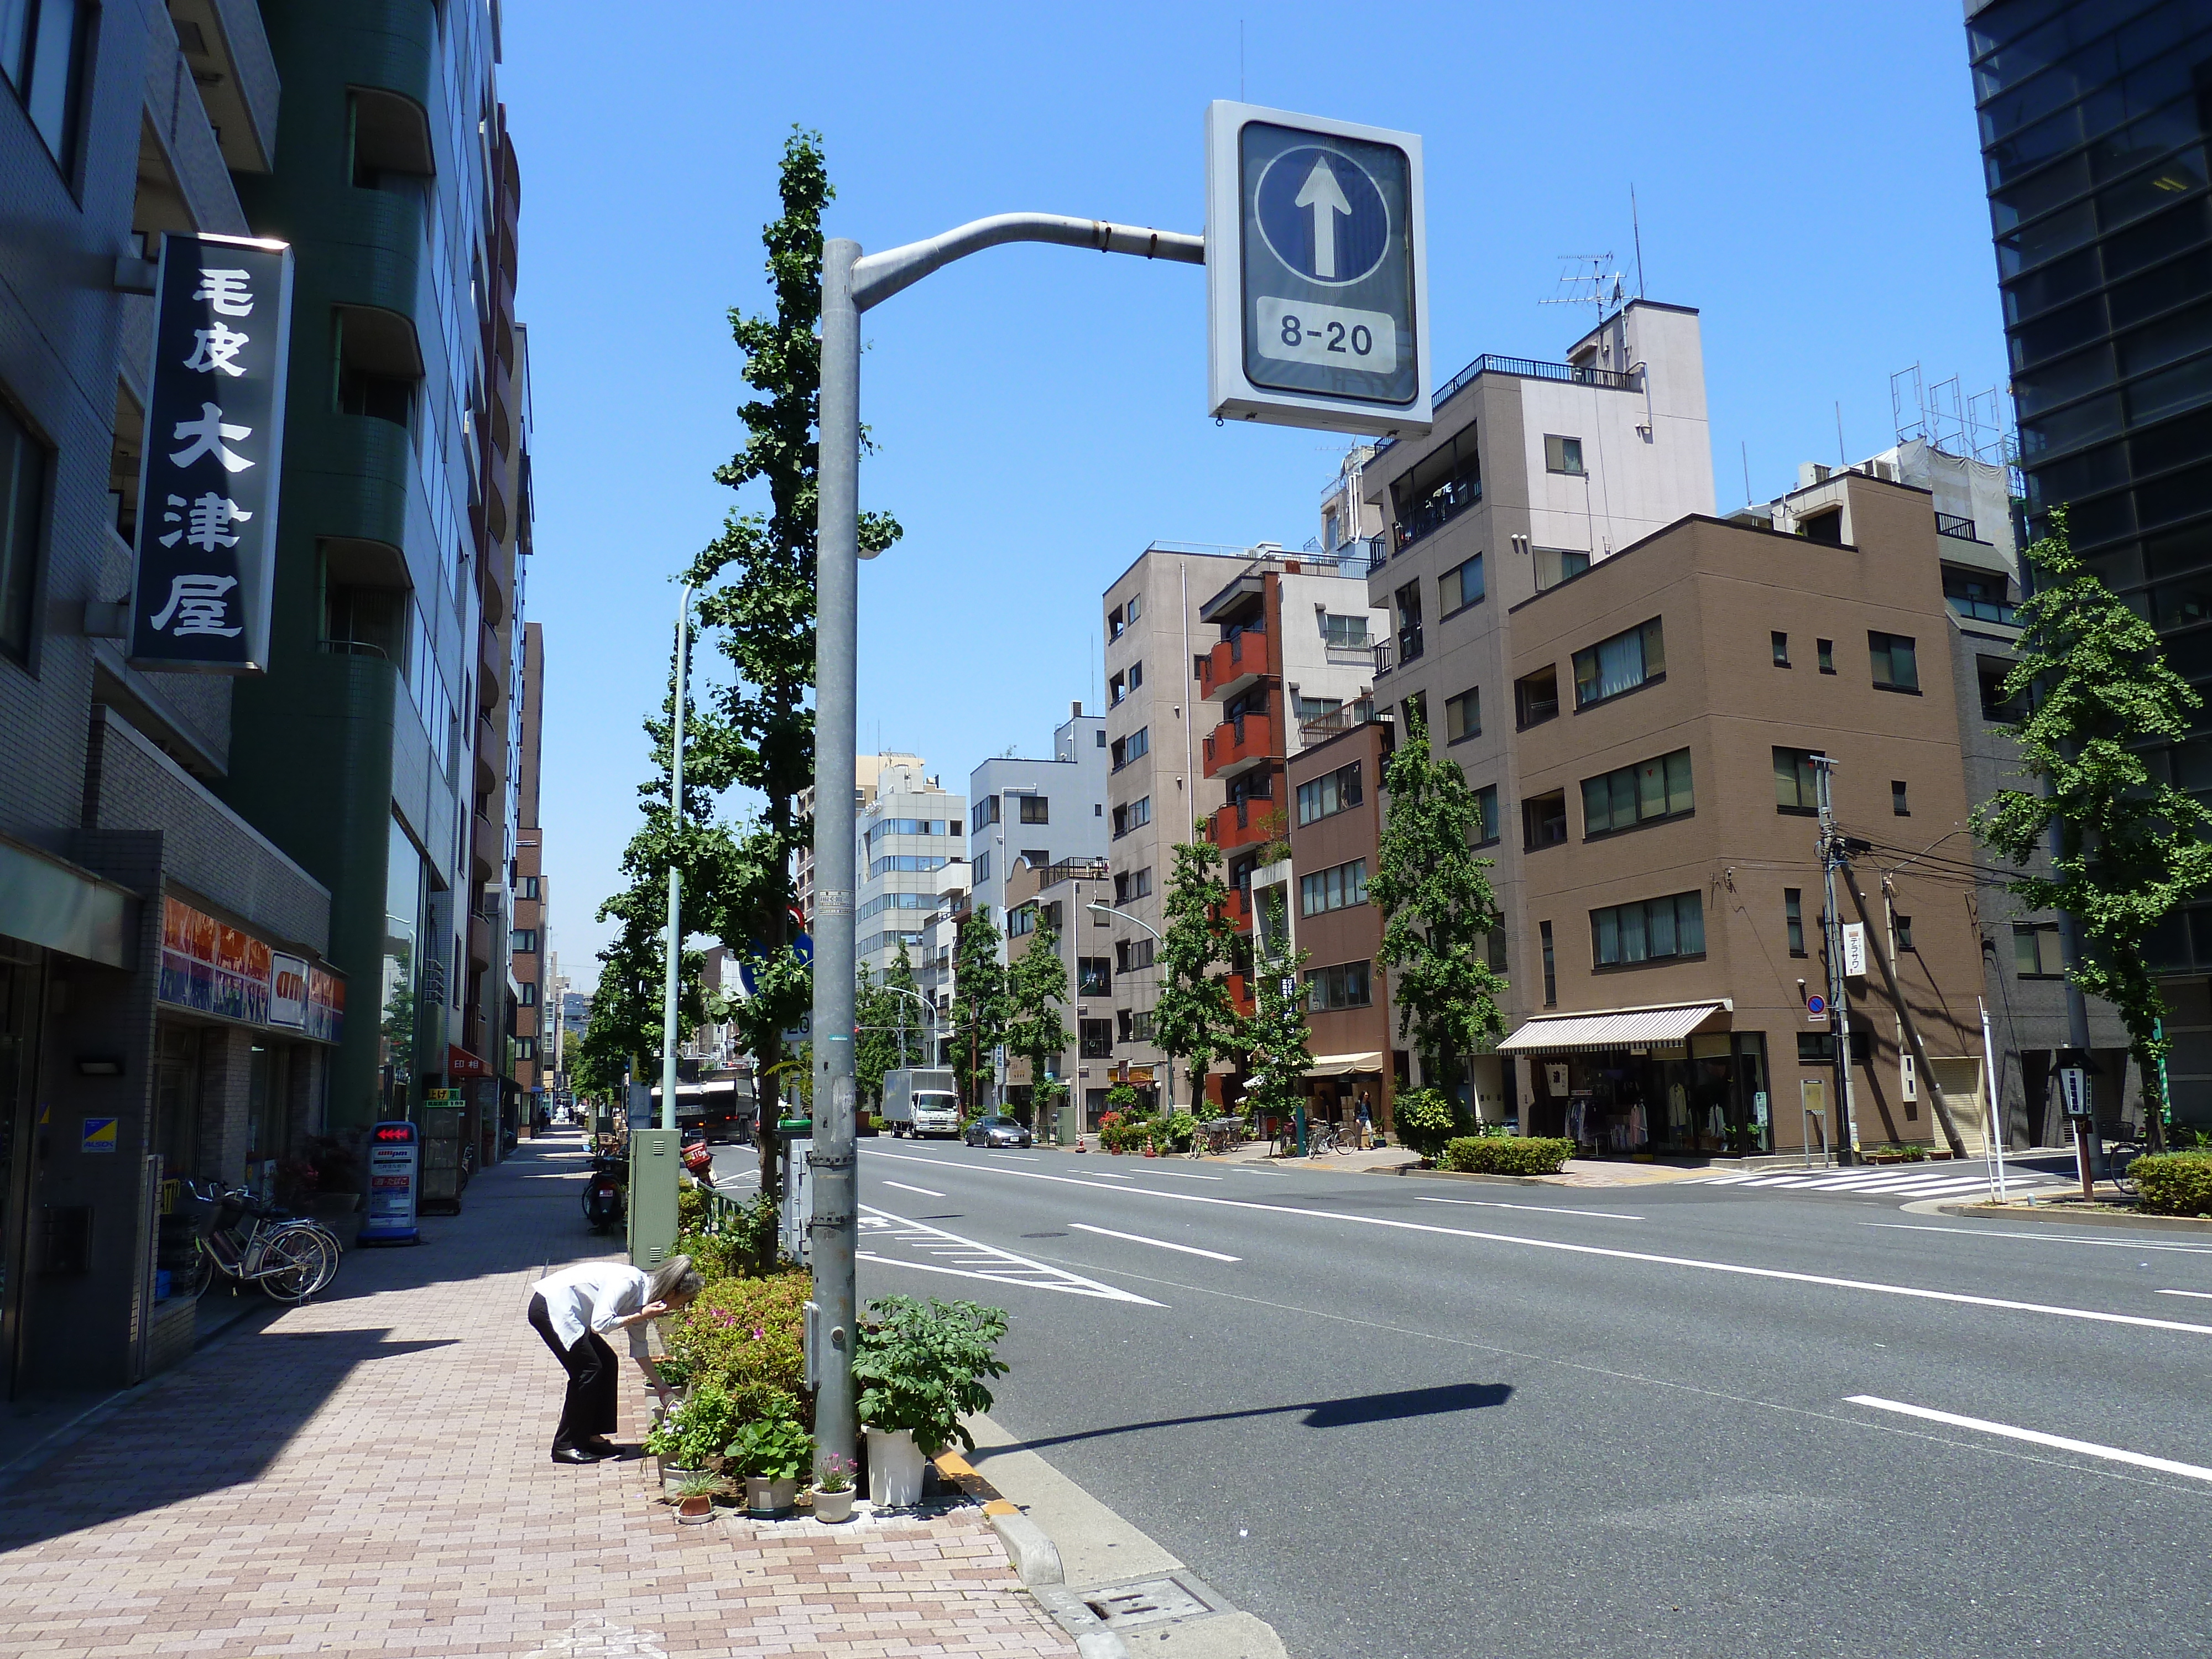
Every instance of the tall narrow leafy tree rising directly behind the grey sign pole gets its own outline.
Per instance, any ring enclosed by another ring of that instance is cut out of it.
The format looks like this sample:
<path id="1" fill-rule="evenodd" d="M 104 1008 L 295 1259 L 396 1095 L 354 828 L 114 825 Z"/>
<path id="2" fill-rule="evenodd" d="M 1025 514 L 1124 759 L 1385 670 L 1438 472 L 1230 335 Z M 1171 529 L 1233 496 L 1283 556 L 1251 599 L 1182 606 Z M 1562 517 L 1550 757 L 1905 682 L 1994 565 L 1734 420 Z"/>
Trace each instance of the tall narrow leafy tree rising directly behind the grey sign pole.
<path id="1" fill-rule="evenodd" d="M 761 396 L 739 407 L 745 447 L 714 471 L 730 489 L 765 484 L 770 511 L 732 509 L 721 535 L 690 568 L 701 591 L 699 617 L 717 630 L 717 646 L 734 670 L 717 699 L 723 768 L 730 783 L 759 796 L 721 938 L 754 962 L 754 995 L 737 1026 L 763 1077 L 781 1064 L 783 1033 L 812 1002 L 812 978 L 792 949 L 792 863 L 814 834 L 799 803 L 814 783 L 821 215 L 834 197 L 818 133 L 792 128 L 779 192 L 783 212 L 761 232 L 774 316 L 730 310 L 730 332 L 745 358 L 743 380 Z M 880 553 L 898 535 L 896 520 L 863 513 L 863 553 Z M 761 1137 L 761 1190 L 774 1194 L 776 1181 L 772 1144 Z"/>

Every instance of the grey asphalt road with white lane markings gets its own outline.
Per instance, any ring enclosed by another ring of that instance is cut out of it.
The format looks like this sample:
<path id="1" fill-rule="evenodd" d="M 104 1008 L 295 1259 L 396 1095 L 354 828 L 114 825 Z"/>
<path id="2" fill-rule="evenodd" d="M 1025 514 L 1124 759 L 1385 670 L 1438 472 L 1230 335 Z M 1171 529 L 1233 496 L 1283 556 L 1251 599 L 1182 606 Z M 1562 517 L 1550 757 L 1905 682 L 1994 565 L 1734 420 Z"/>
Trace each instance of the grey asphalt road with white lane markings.
<path id="1" fill-rule="evenodd" d="M 1296 1659 L 2212 1652 L 2212 1243 L 953 1144 L 860 1170 L 863 1296 L 1011 1310 L 993 1418 Z"/>

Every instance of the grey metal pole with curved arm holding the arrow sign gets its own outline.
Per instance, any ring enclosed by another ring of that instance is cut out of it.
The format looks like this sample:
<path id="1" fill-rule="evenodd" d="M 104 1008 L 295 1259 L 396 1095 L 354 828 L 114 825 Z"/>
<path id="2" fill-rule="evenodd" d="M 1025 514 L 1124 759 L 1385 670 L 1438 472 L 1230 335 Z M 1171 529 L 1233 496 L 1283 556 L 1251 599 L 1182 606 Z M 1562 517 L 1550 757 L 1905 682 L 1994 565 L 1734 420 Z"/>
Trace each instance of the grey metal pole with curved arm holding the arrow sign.
<path id="1" fill-rule="evenodd" d="M 1206 263 L 1206 239 L 1099 219 L 1004 212 L 929 241 L 860 257 L 860 243 L 823 241 L 823 347 L 816 411 L 816 633 L 814 633 L 814 1301 L 825 1352 L 812 1356 L 816 1471 L 854 1455 L 858 1181 L 854 1170 L 854 653 L 860 588 L 860 312 L 940 265 L 1009 241 L 1051 241 L 1113 254 Z"/>

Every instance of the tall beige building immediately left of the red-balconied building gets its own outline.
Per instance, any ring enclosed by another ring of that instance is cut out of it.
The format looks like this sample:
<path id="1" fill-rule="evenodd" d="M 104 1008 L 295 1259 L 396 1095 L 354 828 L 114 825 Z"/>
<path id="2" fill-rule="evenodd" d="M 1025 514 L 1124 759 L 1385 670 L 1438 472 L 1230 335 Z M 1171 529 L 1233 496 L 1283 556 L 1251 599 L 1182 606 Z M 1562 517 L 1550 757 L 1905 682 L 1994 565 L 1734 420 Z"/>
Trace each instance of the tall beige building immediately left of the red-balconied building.
<path id="1" fill-rule="evenodd" d="M 1115 918 L 1115 1053 L 1108 1086 L 1128 1082 L 1159 1102 L 1164 1055 L 1152 1042 L 1159 973 L 1152 967 L 1172 847 L 1225 799 L 1199 770 L 1210 730 L 1199 653 L 1217 637 L 1199 606 L 1252 562 L 1248 549 L 1152 542 L 1104 593 L 1106 827 Z M 1097 1062 L 1093 1062 L 1097 1064 Z M 1177 1086 L 1177 1099 L 1181 1086 Z"/>

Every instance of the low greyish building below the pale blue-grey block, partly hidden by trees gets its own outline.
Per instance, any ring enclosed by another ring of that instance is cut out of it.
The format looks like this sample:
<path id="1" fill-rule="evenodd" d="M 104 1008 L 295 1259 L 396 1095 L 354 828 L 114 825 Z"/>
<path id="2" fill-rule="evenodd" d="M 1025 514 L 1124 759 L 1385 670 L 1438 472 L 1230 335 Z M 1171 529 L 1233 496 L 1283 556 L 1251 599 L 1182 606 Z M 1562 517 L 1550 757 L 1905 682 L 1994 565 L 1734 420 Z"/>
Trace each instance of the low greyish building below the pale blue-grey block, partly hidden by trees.
<path id="1" fill-rule="evenodd" d="M 1077 1135 L 1095 1135 L 1099 1115 L 1108 1110 L 1106 1068 L 1113 1062 L 1113 956 L 1108 953 L 1113 918 L 1093 911 L 1113 894 L 1113 867 L 1106 858 L 1062 858 L 1053 865 L 1022 863 L 1006 887 L 1006 953 L 1022 962 L 1048 927 L 1068 975 L 1068 1002 L 1062 1020 L 1068 1046 L 1046 1060 L 1046 1075 L 1068 1086 L 1060 1106 L 1033 1117 L 1031 1064 L 1006 1055 L 1006 1106 L 1031 1121 L 1040 1141 L 1071 1146 Z"/>

